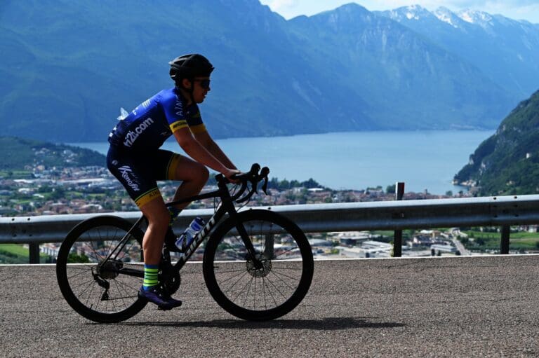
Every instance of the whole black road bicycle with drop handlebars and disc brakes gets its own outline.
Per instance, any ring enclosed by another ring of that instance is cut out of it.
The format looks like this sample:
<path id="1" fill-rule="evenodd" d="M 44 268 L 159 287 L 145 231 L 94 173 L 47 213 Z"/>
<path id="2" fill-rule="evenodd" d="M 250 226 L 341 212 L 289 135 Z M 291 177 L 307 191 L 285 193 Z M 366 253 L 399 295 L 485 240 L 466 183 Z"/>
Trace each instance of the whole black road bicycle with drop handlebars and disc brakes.
<path id="1" fill-rule="evenodd" d="M 286 315 L 302 301 L 314 270 L 307 237 L 281 214 L 245 208 L 260 183 L 267 193 L 268 173 L 267 167 L 260 170 L 255 164 L 235 178 L 239 184 L 232 188 L 218 174 L 216 191 L 166 204 L 220 198 L 213 216 L 184 252 L 171 253 L 164 246 L 159 264 L 162 289 L 171 295 L 178 291 L 180 270 L 204 252 L 206 287 L 230 314 L 264 321 Z M 237 209 L 234 202 L 244 206 Z M 144 277 L 146 225 L 145 216 L 132 224 L 119 216 L 100 215 L 82 221 L 67 234 L 58 252 L 56 275 L 62 295 L 76 312 L 110 323 L 131 318 L 145 307 L 147 301 L 137 293 Z"/>

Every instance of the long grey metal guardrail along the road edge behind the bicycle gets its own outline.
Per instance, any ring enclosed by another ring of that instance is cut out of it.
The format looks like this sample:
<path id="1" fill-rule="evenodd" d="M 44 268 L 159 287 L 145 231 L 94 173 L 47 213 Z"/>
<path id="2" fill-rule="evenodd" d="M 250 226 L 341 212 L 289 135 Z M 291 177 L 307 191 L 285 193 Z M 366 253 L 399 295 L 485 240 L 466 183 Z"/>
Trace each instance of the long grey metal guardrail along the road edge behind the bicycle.
<path id="1" fill-rule="evenodd" d="M 510 226 L 539 223 L 539 195 L 281 205 L 270 208 L 288 216 L 306 233 L 353 230 L 402 230 L 501 226 L 502 254 L 509 252 Z M 244 208 L 246 210 L 248 208 Z M 110 213 L 135 221 L 139 212 Z M 176 226 L 194 216 L 208 218 L 213 209 L 184 210 Z M 77 223 L 100 214 L 0 217 L 0 243 L 30 244 L 30 260 L 39 261 L 39 244 L 61 242 Z M 36 249 L 37 247 L 37 249 Z"/>

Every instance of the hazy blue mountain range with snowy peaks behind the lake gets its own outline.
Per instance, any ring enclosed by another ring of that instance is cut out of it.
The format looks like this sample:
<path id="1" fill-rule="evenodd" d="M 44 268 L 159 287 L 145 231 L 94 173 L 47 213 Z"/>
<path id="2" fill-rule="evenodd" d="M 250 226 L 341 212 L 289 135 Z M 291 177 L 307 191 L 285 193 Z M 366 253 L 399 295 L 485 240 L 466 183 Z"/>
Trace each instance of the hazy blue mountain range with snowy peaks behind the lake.
<path id="1" fill-rule="evenodd" d="M 419 6 L 285 20 L 258 0 L 6 0 L 0 51 L 3 135 L 57 142 L 104 141 L 184 53 L 215 65 L 217 138 L 496 128 L 539 88 L 539 25 Z"/>

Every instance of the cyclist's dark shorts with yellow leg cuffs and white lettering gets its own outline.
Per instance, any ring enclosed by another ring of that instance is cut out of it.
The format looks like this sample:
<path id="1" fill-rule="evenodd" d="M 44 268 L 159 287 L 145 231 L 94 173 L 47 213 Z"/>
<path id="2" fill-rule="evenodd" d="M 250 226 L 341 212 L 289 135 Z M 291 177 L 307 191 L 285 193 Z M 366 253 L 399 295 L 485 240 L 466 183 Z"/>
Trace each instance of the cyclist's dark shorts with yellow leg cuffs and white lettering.
<path id="1" fill-rule="evenodd" d="M 157 149 L 149 153 L 125 151 L 110 146 L 107 167 L 126 188 L 138 207 L 161 198 L 158 180 L 174 179 L 180 156 L 171 151 Z"/>

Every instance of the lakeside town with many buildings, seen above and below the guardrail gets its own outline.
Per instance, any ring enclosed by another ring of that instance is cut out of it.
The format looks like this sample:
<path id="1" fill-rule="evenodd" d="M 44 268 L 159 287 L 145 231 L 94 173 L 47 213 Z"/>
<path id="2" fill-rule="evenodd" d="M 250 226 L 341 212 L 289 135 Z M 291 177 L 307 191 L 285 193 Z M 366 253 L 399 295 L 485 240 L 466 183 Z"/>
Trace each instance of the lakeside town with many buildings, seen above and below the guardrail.
<path id="1" fill-rule="evenodd" d="M 159 182 L 165 199 L 172 198 L 179 182 Z M 311 183 L 312 184 L 312 183 Z M 206 186 L 211 191 L 214 186 Z M 268 189 L 269 195 L 255 195 L 250 206 L 299 205 L 334 202 L 366 202 L 395 200 L 394 188 L 365 188 L 335 191 L 324 187 L 306 187 L 298 182 L 279 182 Z M 405 193 L 404 200 L 437 199 L 470 196 L 472 193 L 428 192 Z M 213 199 L 193 202 L 189 209 L 214 208 Z M 4 172 L 0 177 L 0 216 L 41 216 L 61 214 L 138 211 L 117 179 L 105 167 L 25 167 L 24 173 Z M 515 232 L 533 236 L 537 226 L 512 228 Z M 342 233 L 310 233 L 307 235 L 317 259 L 375 258 L 392 256 L 392 231 L 362 231 Z M 442 228 L 439 230 L 405 230 L 403 256 L 444 256 L 496 253 L 500 234 L 498 228 Z M 528 240 L 529 241 L 529 240 Z M 535 245 L 512 247 L 513 252 L 536 252 Z M 8 262 L 1 255 L 0 263 Z M 41 245 L 41 252 L 53 261 L 57 244 Z M 9 257 L 9 256 L 7 256 Z"/>

